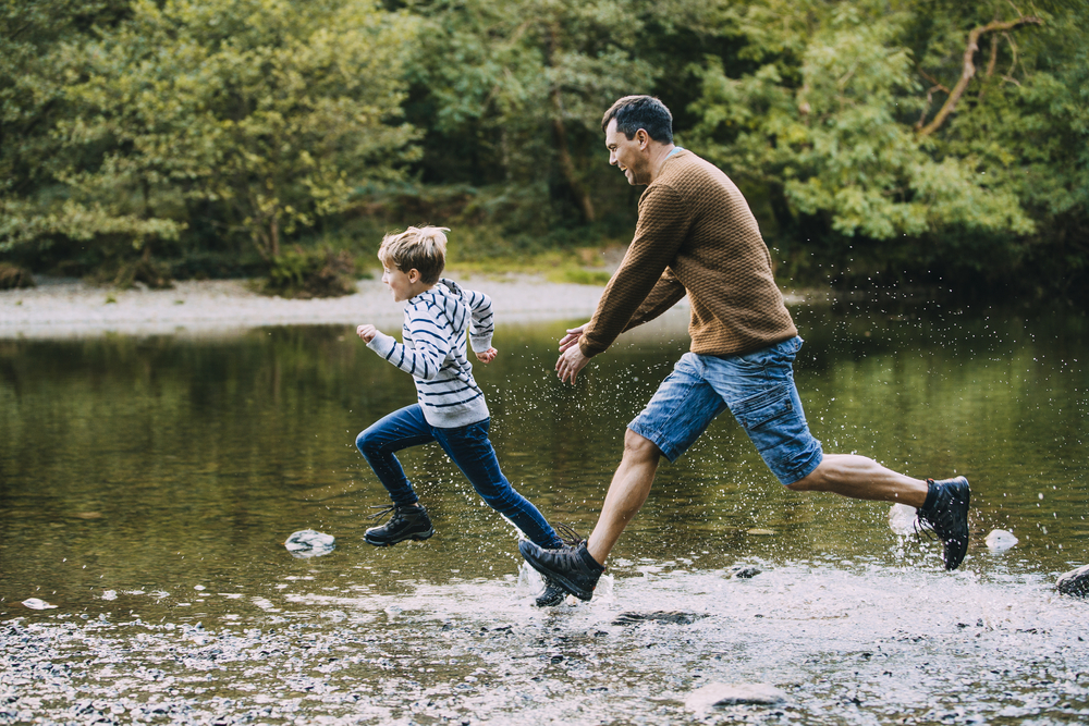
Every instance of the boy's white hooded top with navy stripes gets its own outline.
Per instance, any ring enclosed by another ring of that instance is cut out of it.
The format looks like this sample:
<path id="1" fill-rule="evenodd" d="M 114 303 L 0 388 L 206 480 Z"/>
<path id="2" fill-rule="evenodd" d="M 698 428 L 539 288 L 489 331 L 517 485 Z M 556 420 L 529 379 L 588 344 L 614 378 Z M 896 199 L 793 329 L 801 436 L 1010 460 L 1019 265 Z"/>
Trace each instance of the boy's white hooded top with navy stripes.
<path id="1" fill-rule="evenodd" d="M 466 329 L 474 350 L 491 347 L 491 298 L 462 291 L 453 280 L 443 278 L 405 303 L 403 344 L 384 333 L 367 344 L 412 374 L 424 418 L 431 426 L 453 429 L 488 418 L 484 391 L 473 379 L 473 366 L 466 357 Z"/>

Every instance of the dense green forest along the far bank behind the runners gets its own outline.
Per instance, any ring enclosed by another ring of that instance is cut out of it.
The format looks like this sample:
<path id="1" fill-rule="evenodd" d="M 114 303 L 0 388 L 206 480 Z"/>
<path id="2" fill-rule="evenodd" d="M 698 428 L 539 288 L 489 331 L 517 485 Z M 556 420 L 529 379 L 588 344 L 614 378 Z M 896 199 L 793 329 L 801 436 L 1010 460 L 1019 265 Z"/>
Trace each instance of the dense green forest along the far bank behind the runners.
<path id="1" fill-rule="evenodd" d="M 0 286 L 330 294 L 425 222 L 600 281 L 651 94 L 784 286 L 1089 302 L 1087 0 L 0 2 Z"/>

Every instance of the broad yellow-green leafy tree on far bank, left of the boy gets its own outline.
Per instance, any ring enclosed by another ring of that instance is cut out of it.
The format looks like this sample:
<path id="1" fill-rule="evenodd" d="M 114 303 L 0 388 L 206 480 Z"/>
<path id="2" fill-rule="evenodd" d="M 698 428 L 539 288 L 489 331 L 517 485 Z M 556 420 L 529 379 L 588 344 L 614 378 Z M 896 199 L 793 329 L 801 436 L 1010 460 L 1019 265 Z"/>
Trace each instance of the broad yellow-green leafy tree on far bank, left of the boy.
<path id="1" fill-rule="evenodd" d="M 415 25 L 359 0 L 135 0 L 56 51 L 63 194 L 35 201 L 97 210 L 88 234 L 131 220 L 137 247 L 200 213 L 274 260 L 413 158 L 399 119 Z"/>

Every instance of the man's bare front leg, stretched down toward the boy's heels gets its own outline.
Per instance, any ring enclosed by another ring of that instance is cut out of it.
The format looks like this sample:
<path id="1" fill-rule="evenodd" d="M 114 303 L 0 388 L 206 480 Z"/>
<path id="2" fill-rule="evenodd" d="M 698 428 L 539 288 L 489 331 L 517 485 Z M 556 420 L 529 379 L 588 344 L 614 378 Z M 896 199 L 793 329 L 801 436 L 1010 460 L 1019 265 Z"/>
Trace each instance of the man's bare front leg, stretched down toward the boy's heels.
<path id="1" fill-rule="evenodd" d="M 598 524 L 586 542 L 586 550 L 599 565 L 605 563 L 621 532 L 647 501 L 661 455 L 649 439 L 631 429 L 624 434 L 624 457 L 609 484 Z"/>

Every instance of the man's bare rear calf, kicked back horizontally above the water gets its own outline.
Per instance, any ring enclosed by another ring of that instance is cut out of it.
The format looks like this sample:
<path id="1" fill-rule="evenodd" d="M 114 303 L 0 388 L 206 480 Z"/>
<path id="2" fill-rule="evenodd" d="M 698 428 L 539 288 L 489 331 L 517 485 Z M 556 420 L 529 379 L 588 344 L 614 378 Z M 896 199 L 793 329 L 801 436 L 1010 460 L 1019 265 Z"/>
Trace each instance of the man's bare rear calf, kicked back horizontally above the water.
<path id="1" fill-rule="evenodd" d="M 854 454 L 824 456 L 808 477 L 790 484 L 790 488 L 795 491 L 834 492 L 856 500 L 898 502 L 917 509 L 927 500 L 927 482 L 896 473 L 873 459 Z"/>

